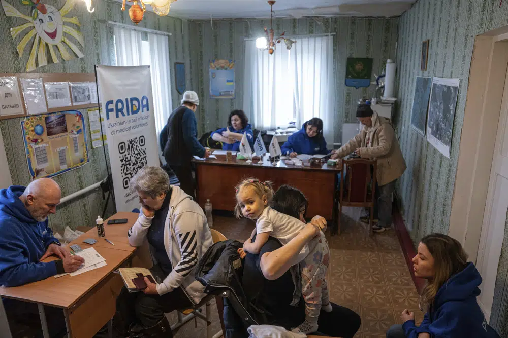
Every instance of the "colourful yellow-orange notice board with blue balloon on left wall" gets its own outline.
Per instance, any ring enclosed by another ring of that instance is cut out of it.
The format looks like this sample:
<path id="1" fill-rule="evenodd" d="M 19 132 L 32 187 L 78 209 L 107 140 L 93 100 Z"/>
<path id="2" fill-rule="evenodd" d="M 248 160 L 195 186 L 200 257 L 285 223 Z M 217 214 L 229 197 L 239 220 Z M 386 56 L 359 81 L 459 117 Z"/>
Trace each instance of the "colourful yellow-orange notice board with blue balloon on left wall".
<path id="1" fill-rule="evenodd" d="M 53 177 L 88 163 L 83 114 L 77 110 L 21 121 L 31 179 Z"/>

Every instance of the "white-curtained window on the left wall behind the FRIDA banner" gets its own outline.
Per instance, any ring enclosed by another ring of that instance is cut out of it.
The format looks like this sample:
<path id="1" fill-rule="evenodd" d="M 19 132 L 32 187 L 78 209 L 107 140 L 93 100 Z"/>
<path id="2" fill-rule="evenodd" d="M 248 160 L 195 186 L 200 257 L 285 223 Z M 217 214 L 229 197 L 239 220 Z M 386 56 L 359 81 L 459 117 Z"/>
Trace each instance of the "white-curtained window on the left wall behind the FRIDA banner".
<path id="1" fill-rule="evenodd" d="M 173 111 L 168 36 L 113 26 L 117 66 L 150 65 L 157 135 Z"/>

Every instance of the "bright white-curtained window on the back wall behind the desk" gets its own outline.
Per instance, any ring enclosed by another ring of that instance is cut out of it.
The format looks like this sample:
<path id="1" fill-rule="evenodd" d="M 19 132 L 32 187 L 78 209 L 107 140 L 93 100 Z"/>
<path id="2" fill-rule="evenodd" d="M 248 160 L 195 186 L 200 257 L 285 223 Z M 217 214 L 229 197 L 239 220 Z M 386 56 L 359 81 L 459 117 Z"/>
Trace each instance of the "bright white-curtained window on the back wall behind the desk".
<path id="1" fill-rule="evenodd" d="M 333 145 L 335 76 L 333 36 L 298 37 L 288 50 L 280 44 L 272 55 L 245 41 L 244 111 L 255 127 L 275 129 L 313 117 L 323 120 L 323 135 Z"/>

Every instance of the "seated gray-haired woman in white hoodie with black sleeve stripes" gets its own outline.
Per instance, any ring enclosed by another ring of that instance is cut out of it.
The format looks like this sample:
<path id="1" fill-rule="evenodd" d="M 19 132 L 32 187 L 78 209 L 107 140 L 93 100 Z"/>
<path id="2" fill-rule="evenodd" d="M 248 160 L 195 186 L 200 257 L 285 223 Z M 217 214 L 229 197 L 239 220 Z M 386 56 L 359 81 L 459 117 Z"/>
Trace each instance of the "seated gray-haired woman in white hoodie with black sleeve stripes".
<path id="1" fill-rule="evenodd" d="M 138 247 L 148 240 L 151 271 L 162 282 L 145 277 L 143 292 L 123 288 L 117 300 L 121 320 L 115 327 L 121 333 L 129 330 L 131 337 L 172 337 L 164 313 L 192 307 L 204 297 L 194 268 L 212 245 L 212 236 L 201 207 L 180 187 L 171 186 L 162 168 L 143 167 L 131 179 L 130 188 L 139 195 L 141 213 L 129 230 L 129 243 Z"/>

